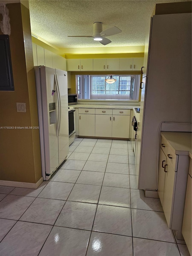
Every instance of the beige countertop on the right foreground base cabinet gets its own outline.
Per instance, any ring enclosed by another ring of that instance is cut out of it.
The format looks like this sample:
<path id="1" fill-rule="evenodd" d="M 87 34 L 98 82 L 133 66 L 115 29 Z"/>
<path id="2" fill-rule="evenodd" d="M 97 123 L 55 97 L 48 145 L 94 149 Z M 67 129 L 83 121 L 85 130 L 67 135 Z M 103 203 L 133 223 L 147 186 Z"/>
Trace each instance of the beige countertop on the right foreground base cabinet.
<path id="1" fill-rule="evenodd" d="M 191 132 L 161 131 L 161 136 L 168 141 L 168 145 L 176 155 L 189 155 L 192 158 Z"/>

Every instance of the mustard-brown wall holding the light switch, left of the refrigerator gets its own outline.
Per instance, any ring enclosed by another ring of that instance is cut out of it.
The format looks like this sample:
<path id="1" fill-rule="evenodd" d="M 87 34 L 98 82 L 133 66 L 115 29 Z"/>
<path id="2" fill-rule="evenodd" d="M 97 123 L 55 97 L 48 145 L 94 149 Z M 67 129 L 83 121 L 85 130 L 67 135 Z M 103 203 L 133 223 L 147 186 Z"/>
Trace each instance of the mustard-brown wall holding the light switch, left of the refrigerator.
<path id="1" fill-rule="evenodd" d="M 6 6 L 15 91 L 0 92 L 0 126 L 38 126 L 29 10 L 20 3 Z M 26 113 L 17 112 L 16 102 L 26 103 Z M 42 176 L 39 130 L 1 129 L 0 142 L 0 179 L 36 183 Z"/>

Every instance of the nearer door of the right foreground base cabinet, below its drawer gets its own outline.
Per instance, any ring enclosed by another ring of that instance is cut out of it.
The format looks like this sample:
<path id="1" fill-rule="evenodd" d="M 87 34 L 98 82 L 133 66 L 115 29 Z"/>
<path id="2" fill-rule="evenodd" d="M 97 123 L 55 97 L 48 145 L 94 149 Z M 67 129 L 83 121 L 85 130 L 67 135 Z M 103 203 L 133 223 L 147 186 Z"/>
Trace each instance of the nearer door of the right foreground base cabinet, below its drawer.
<path id="1" fill-rule="evenodd" d="M 171 219 L 173 214 L 173 202 L 174 202 L 174 184 L 177 173 L 173 167 L 167 161 L 166 173 L 165 173 L 165 185 L 163 196 L 163 210 L 165 218 L 167 220 L 168 227 L 171 228 Z"/>

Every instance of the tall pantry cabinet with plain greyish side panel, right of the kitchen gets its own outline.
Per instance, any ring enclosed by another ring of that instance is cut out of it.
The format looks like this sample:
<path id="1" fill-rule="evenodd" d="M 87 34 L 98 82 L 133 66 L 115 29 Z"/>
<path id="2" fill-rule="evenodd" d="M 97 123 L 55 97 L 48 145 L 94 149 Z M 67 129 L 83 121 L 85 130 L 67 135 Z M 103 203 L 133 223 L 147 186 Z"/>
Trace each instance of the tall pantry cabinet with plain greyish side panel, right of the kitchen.
<path id="1" fill-rule="evenodd" d="M 140 88 L 138 188 L 156 190 L 159 125 L 161 122 L 191 123 L 190 13 L 152 17 Z"/>

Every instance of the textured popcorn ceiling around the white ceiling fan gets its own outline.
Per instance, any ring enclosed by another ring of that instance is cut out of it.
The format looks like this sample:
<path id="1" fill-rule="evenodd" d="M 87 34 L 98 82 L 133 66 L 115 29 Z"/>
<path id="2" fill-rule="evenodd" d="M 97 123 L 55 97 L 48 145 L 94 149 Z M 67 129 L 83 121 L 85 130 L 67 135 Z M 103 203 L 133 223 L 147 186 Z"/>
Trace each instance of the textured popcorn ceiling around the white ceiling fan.
<path id="1" fill-rule="evenodd" d="M 68 38 L 67 35 L 93 35 L 93 23 L 103 30 L 117 26 L 118 35 L 109 36 L 107 47 L 145 45 L 146 25 L 156 3 L 182 1 L 155 0 L 29 0 L 32 33 L 59 48 L 106 47 L 93 38 Z"/>

